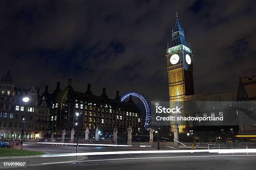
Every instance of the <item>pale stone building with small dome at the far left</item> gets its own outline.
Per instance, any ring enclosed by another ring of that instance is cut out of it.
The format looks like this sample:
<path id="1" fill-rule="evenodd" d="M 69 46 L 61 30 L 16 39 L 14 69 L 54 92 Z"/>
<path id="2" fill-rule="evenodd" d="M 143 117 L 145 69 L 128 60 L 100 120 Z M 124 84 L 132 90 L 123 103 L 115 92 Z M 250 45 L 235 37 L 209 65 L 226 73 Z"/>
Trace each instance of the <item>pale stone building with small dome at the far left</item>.
<path id="1" fill-rule="evenodd" d="M 46 100 L 39 95 L 39 88 L 15 87 L 13 77 L 8 71 L 0 81 L 0 138 L 3 140 L 21 139 L 25 110 L 23 97 L 29 98 L 25 113 L 25 140 L 39 139 L 48 130 L 49 107 Z"/>

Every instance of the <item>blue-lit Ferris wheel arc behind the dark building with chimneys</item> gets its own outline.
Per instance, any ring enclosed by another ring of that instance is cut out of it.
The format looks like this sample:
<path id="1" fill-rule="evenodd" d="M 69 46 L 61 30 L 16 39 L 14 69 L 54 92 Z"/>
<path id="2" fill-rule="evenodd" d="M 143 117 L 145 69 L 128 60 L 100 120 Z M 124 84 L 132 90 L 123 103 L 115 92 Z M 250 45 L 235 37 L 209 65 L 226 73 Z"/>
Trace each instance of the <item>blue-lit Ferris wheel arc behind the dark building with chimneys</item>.
<path id="1" fill-rule="evenodd" d="M 141 101 L 143 102 L 143 104 L 146 108 L 146 122 L 145 122 L 145 125 L 144 125 L 144 128 L 146 129 L 148 127 L 149 120 L 150 120 L 150 109 L 149 109 L 149 106 L 148 106 L 148 102 L 147 102 L 146 98 L 138 92 L 128 92 L 128 93 L 126 93 L 125 95 L 123 95 L 121 97 L 121 102 L 123 102 L 123 100 L 125 100 L 127 97 L 130 97 L 130 96 L 135 96 L 135 97 L 138 97 L 139 99 L 141 99 Z"/>

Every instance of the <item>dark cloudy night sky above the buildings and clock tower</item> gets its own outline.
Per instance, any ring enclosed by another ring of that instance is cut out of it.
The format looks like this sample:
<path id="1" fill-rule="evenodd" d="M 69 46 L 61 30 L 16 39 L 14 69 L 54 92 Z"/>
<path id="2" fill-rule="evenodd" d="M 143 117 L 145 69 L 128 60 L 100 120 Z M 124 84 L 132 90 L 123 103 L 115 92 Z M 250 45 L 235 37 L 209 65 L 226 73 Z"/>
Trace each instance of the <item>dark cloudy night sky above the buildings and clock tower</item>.
<path id="1" fill-rule="evenodd" d="M 72 78 L 95 95 L 138 91 L 168 100 L 166 44 L 175 13 L 190 42 L 195 93 L 238 87 L 256 75 L 255 1 L 14 1 L 0 2 L 0 76 L 18 87 L 52 92 Z"/>

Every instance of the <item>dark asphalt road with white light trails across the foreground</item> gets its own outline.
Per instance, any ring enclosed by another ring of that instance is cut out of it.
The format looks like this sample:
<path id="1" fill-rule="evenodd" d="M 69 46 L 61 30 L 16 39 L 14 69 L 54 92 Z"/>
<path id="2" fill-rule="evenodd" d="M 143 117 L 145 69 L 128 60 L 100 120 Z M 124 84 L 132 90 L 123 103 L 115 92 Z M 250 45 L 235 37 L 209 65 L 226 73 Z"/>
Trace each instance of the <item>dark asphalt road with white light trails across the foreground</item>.
<path id="1" fill-rule="evenodd" d="M 75 147 L 24 145 L 25 149 L 47 153 L 74 153 Z M 123 149 L 79 147 L 79 152 L 107 152 Z M 54 160 L 54 158 L 53 158 Z M 147 153 L 92 155 L 74 162 L 56 162 L 19 170 L 255 170 L 256 153 L 247 155 L 210 153 Z"/>

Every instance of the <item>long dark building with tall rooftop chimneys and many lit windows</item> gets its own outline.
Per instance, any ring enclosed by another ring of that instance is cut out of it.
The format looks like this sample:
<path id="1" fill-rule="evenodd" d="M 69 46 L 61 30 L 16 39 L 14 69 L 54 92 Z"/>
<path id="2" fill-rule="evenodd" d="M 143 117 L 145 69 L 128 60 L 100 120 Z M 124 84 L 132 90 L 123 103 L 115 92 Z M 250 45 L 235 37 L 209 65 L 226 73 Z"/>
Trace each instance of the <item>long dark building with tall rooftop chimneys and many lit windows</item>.
<path id="1" fill-rule="evenodd" d="M 48 87 L 47 87 L 48 88 Z M 103 88 L 101 96 L 93 95 L 90 84 L 86 92 L 74 91 L 71 79 L 64 90 L 60 90 L 57 82 L 56 90 L 49 94 L 44 92 L 50 108 L 50 131 L 60 134 L 62 130 L 70 132 L 75 128 L 76 113 L 79 113 L 79 129 L 84 132 L 89 128 L 91 134 L 98 128 L 105 134 L 113 133 L 115 127 L 118 133 L 125 133 L 131 125 L 133 133 L 142 128 L 141 112 L 131 99 L 121 102 L 119 92 L 115 99 L 108 98 L 106 88 Z"/>

